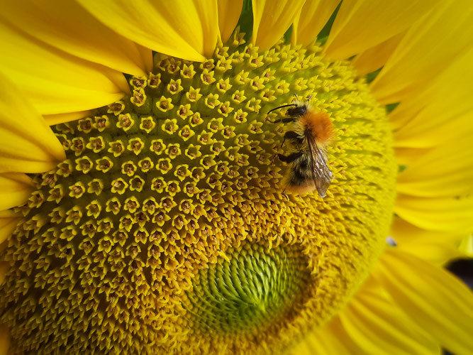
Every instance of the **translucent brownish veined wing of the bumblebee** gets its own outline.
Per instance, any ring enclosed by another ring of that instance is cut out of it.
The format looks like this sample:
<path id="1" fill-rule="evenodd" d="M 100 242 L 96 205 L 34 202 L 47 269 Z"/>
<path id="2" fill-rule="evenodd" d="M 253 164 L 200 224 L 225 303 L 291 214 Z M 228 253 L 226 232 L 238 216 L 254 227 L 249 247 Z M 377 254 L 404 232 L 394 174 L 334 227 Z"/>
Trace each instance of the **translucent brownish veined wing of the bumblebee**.
<path id="1" fill-rule="evenodd" d="M 316 185 L 318 195 L 325 197 L 330 182 L 332 181 L 332 172 L 325 163 L 325 152 L 318 148 L 316 139 L 311 132 L 306 132 L 308 151 L 311 154 L 313 182 Z"/>

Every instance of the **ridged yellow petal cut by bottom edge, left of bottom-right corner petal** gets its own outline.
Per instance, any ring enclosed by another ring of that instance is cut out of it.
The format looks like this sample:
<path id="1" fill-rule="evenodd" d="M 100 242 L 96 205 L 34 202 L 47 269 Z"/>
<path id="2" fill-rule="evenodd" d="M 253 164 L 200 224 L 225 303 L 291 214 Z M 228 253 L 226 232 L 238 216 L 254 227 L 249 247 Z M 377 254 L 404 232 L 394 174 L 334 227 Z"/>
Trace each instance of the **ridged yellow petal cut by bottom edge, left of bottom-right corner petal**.
<path id="1" fill-rule="evenodd" d="M 441 354 L 432 337 L 393 306 L 381 295 L 360 292 L 340 313 L 362 354 Z"/>

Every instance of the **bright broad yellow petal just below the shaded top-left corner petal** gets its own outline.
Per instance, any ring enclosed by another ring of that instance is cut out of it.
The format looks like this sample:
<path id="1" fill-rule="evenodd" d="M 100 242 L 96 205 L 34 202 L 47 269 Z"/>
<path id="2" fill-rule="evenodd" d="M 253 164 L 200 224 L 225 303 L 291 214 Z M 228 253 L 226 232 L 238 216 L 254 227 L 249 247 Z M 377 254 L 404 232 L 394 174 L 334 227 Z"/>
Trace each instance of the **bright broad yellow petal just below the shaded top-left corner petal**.
<path id="1" fill-rule="evenodd" d="M 94 109 L 123 97 L 121 72 L 41 43 L 0 21 L 1 70 L 23 89 L 40 114 Z"/>

